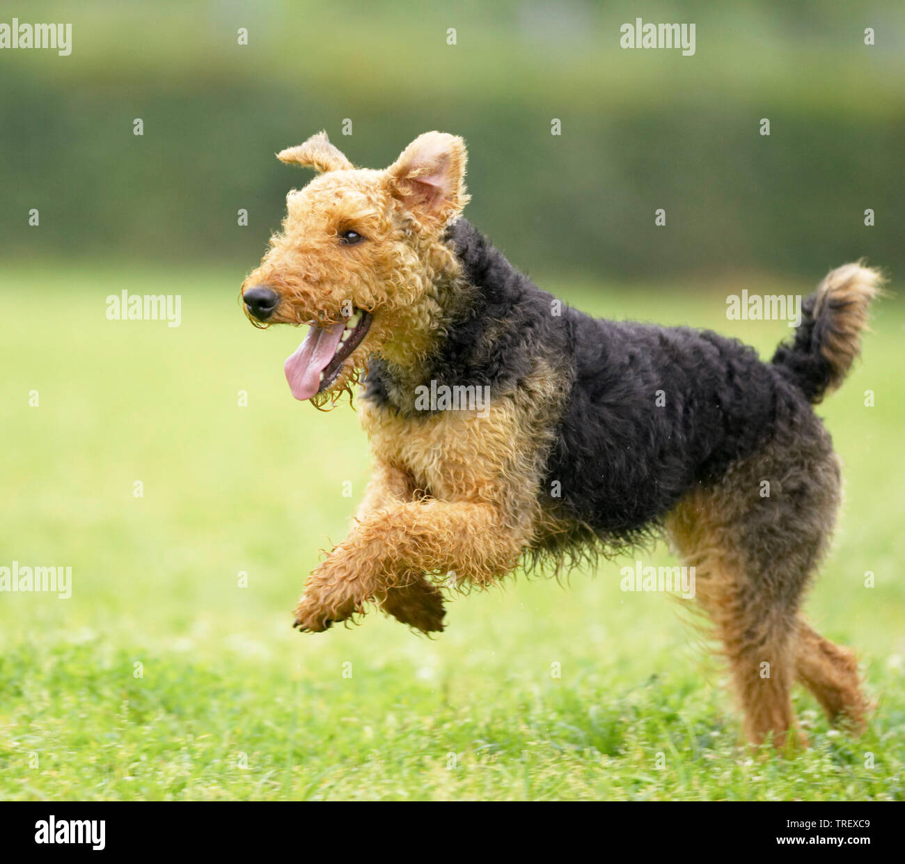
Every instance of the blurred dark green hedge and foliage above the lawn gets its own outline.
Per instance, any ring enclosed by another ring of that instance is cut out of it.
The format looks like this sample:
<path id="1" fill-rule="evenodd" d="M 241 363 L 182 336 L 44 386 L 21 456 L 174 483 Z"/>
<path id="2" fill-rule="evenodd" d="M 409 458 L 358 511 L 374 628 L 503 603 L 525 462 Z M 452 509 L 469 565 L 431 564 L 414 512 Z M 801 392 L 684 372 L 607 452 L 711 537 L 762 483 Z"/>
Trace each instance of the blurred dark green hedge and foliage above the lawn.
<path id="1" fill-rule="evenodd" d="M 327 128 L 379 167 L 442 128 L 469 143 L 472 221 L 529 270 L 814 279 L 868 255 L 901 271 L 898 5 L 645 6 L 645 21 L 696 23 L 693 57 L 621 50 L 619 24 L 637 14 L 577 2 L 33 5 L 27 20 L 72 22 L 73 47 L 0 52 L 4 254 L 247 270 L 286 191 L 308 178 L 275 151 Z"/>

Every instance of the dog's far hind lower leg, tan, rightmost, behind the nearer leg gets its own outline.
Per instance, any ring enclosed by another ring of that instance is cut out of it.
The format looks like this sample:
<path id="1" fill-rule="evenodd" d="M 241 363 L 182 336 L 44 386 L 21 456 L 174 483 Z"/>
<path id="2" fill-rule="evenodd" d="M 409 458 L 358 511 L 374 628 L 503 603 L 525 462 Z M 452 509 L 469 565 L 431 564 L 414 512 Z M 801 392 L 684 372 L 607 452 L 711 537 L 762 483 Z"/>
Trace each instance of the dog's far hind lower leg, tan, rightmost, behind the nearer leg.
<path id="1" fill-rule="evenodd" d="M 830 720 L 845 718 L 854 732 L 864 730 L 869 705 L 853 650 L 824 639 L 800 620 L 795 631 L 795 676 Z"/>

